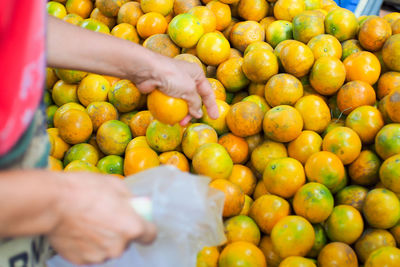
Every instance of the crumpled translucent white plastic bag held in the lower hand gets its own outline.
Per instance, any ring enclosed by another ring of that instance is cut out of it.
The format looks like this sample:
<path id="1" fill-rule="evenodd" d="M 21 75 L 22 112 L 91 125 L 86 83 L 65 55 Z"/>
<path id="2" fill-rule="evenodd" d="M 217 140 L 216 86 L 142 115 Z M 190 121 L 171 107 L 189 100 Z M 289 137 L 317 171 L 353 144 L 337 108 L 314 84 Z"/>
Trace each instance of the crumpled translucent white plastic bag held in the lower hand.
<path id="1" fill-rule="evenodd" d="M 153 168 L 125 179 L 135 196 L 149 197 L 158 235 L 150 246 L 132 243 L 119 259 L 97 267 L 195 267 L 205 246 L 225 242 L 224 194 L 208 186 L 210 179 L 172 166 Z M 55 257 L 49 267 L 72 267 Z"/>

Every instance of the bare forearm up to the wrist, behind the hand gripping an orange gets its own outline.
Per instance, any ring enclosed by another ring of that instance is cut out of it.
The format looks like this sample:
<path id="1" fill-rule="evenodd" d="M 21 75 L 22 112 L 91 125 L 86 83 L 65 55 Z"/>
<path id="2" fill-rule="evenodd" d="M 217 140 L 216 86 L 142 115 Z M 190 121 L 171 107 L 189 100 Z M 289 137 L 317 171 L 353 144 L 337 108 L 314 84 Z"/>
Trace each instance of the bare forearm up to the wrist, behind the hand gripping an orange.
<path id="1" fill-rule="evenodd" d="M 151 72 L 154 52 L 130 41 L 48 17 L 47 63 L 120 78 Z M 140 73 L 139 73 L 140 72 Z"/>

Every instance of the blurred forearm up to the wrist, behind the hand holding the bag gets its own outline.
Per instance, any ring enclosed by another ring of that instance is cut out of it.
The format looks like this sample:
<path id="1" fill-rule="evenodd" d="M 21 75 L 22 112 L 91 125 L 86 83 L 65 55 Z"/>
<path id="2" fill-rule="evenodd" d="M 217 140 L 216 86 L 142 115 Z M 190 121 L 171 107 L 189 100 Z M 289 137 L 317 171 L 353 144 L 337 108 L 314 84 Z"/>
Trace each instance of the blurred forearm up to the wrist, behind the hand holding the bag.
<path id="1" fill-rule="evenodd" d="M 0 238 L 45 234 L 59 219 L 60 174 L 0 172 Z"/>

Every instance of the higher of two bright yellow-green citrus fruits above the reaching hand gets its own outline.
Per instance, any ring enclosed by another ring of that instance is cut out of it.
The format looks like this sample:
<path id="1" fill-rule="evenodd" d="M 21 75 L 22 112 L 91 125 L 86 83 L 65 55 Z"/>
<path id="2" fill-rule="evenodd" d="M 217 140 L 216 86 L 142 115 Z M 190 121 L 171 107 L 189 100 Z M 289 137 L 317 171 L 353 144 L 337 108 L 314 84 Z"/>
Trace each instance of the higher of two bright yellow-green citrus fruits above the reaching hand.
<path id="1" fill-rule="evenodd" d="M 192 14 L 177 15 L 168 25 L 168 35 L 179 47 L 194 47 L 203 34 L 203 26 Z"/>

